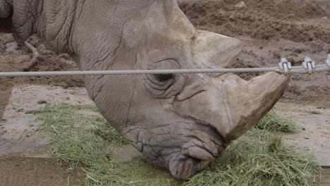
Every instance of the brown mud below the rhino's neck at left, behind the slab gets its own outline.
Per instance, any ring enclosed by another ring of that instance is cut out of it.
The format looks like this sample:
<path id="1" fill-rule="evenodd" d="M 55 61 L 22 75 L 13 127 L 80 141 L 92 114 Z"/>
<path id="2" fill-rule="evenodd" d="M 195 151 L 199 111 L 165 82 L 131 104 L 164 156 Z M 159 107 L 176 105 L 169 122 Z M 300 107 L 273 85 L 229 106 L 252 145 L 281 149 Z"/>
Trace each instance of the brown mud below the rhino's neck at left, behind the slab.
<path id="1" fill-rule="evenodd" d="M 36 66 L 30 68 L 30 71 L 78 70 L 68 54 L 56 54 L 54 51 L 46 49 L 37 37 L 31 37 L 29 42 L 41 54 Z M 23 71 L 23 68 L 29 65 L 31 55 L 27 47 L 17 44 L 11 34 L 0 33 L 0 72 Z M 0 77 L 0 118 L 2 118 L 4 107 L 8 103 L 11 87 L 30 84 L 55 85 L 64 88 L 84 86 L 81 77 Z"/>

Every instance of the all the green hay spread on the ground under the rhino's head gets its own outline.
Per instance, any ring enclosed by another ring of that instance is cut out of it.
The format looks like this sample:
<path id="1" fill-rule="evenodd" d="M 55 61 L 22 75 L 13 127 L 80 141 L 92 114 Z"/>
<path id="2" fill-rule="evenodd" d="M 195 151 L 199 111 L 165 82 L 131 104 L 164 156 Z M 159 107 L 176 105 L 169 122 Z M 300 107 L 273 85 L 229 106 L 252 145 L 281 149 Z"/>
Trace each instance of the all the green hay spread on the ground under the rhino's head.
<path id="1" fill-rule="evenodd" d="M 54 157 L 70 163 L 71 168 L 78 165 L 83 168 L 85 185 L 319 184 L 320 168 L 314 156 L 283 144 L 279 132 L 296 130 L 288 130 L 295 128 L 294 123 L 277 113 L 270 113 L 264 118 L 267 122 L 262 121 L 263 124 L 233 142 L 212 166 L 190 180 L 178 181 L 142 157 L 128 163 L 114 161 L 114 149 L 128 142 L 104 118 L 83 116 L 80 110 L 97 111 L 95 106 L 46 106 L 37 120 L 44 123 L 44 130 L 51 132 Z M 269 123 L 280 127 L 270 129 Z"/>

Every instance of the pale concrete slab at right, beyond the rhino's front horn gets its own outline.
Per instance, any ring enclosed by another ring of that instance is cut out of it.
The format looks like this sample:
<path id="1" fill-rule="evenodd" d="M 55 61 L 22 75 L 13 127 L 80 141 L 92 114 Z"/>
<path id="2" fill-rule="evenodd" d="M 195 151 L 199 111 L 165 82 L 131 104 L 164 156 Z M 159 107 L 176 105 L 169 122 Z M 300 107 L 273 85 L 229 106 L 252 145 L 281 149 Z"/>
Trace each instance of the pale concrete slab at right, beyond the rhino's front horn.
<path id="1" fill-rule="evenodd" d="M 286 143 L 315 152 L 320 165 L 330 167 L 330 108 L 290 102 L 279 102 L 276 108 L 295 120 L 301 130 L 298 134 L 286 135 Z"/>

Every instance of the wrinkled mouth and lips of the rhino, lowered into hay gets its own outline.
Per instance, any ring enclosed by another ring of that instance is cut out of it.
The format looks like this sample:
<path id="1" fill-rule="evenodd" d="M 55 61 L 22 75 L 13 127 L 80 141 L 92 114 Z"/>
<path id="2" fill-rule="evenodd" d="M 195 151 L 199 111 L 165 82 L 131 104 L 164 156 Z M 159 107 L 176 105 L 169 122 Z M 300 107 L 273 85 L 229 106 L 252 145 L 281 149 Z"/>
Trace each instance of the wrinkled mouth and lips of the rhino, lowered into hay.
<path id="1" fill-rule="evenodd" d="M 138 139 L 131 143 L 147 159 L 168 169 L 174 178 L 184 180 L 204 170 L 221 156 L 228 146 L 228 140 L 210 123 L 193 117 L 181 118 L 185 120 L 184 123 L 168 125 L 170 130 L 159 137 L 141 128 L 128 130 L 126 135 Z"/>

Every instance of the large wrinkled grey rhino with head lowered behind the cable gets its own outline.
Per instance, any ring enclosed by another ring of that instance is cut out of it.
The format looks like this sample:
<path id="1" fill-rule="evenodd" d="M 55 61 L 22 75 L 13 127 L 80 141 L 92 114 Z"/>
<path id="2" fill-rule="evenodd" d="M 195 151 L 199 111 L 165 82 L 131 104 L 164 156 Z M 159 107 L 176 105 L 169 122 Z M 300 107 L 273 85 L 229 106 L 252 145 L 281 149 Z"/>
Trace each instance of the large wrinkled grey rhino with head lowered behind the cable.
<path id="1" fill-rule="evenodd" d="M 75 56 L 81 70 L 226 68 L 237 39 L 196 30 L 175 0 L 0 0 L 2 32 L 37 34 Z M 179 179 L 206 168 L 283 94 L 276 73 L 85 77 L 90 97 L 116 130 Z"/>

